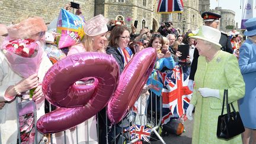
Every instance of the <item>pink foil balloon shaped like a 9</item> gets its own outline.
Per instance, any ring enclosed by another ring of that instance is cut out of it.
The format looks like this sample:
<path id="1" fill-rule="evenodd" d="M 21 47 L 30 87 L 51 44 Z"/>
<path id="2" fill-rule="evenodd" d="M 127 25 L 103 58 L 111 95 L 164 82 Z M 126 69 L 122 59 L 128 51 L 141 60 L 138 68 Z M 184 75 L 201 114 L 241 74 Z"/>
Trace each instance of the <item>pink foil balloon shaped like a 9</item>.
<path id="1" fill-rule="evenodd" d="M 75 84 L 88 79 L 94 83 Z M 42 85 L 46 99 L 60 108 L 40 117 L 37 129 L 41 133 L 60 132 L 91 118 L 108 103 L 118 81 L 119 66 L 107 54 L 86 52 L 65 57 L 49 69 Z"/>

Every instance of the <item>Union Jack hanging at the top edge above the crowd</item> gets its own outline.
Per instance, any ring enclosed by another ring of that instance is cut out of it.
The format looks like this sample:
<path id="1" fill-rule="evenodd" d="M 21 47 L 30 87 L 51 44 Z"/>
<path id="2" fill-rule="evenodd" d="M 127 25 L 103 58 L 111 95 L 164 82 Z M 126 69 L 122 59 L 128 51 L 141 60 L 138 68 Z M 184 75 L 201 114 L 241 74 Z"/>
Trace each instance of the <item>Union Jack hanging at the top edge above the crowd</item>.
<path id="1" fill-rule="evenodd" d="M 168 14 L 172 12 L 183 12 L 183 0 L 158 0 L 157 11 L 161 14 Z"/>

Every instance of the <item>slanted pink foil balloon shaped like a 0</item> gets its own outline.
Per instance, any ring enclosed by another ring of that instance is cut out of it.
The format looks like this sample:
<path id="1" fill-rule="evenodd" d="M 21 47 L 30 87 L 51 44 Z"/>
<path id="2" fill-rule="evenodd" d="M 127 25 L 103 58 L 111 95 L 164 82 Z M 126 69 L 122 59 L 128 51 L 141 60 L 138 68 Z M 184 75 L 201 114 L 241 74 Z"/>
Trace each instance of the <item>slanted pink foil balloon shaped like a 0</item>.
<path id="1" fill-rule="evenodd" d="M 119 123 L 133 107 L 156 61 L 156 51 L 149 47 L 137 53 L 121 73 L 119 85 L 107 105 L 111 123 Z"/>

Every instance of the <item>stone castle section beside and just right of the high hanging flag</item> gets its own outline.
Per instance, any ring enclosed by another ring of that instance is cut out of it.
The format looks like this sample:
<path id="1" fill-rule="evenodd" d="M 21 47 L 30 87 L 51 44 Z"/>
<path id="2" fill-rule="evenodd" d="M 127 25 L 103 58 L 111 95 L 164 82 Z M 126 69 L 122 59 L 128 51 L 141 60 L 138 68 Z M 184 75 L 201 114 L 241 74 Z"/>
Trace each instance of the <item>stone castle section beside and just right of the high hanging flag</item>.
<path id="1" fill-rule="evenodd" d="M 199 14 L 199 0 L 184 0 L 183 13 L 162 14 L 162 21 L 171 20 L 173 27 L 181 31 L 181 34 L 188 30 L 196 30 L 203 25 Z"/>

